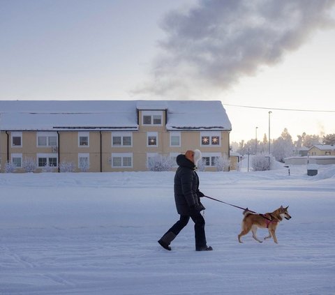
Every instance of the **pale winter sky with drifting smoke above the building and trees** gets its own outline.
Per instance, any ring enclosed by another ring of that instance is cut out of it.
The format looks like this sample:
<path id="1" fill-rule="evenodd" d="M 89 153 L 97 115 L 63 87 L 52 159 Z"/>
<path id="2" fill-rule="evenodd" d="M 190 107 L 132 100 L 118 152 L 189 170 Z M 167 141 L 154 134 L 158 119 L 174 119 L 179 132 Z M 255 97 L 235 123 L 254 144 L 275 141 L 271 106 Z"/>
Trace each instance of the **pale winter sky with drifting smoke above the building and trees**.
<path id="1" fill-rule="evenodd" d="M 256 127 L 258 139 L 268 136 L 269 111 L 271 139 L 284 128 L 294 140 L 335 133 L 334 8 L 334 0 L 0 0 L 0 99 L 221 100 L 232 142 L 255 138 Z"/>

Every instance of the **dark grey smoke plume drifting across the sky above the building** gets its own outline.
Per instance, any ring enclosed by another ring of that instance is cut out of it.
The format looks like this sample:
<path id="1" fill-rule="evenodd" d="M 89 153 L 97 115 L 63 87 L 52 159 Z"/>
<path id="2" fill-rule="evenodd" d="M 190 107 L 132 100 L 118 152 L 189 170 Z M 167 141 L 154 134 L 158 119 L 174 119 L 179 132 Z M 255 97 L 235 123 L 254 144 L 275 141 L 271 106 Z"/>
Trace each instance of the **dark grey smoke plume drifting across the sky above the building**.
<path id="1" fill-rule="evenodd" d="M 335 0 L 200 0 L 161 23 L 152 82 L 143 91 L 184 98 L 194 89 L 229 89 L 297 50 L 313 32 L 334 26 Z"/>

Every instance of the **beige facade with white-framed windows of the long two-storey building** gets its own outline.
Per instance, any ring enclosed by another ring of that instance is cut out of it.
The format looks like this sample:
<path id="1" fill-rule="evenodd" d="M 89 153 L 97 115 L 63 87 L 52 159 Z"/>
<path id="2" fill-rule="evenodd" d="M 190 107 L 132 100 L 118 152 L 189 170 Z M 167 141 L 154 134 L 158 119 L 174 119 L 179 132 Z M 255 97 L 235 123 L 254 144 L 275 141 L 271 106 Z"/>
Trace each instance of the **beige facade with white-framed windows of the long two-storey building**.
<path id="1" fill-rule="evenodd" d="M 135 128 L 1 128 L 1 172 L 5 172 L 6 163 L 12 163 L 15 172 L 24 172 L 27 160 L 36 163 L 34 172 L 42 172 L 45 166 L 59 172 L 64 163 L 70 163 L 75 172 L 147 171 L 149 158 L 157 155 L 176 158 L 188 149 L 200 149 L 205 170 L 216 171 L 215 159 L 230 157 L 230 128 L 167 127 L 169 114 L 163 108 L 137 109 L 133 113 L 137 116 Z"/>

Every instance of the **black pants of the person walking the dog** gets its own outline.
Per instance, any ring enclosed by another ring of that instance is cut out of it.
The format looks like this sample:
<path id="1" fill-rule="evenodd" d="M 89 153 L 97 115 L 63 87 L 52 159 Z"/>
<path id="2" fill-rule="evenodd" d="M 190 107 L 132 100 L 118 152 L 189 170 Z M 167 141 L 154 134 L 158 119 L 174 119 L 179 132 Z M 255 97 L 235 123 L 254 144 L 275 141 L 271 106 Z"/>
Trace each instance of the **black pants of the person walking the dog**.
<path id="1" fill-rule="evenodd" d="M 204 234 L 204 218 L 200 213 L 188 215 L 180 215 L 179 220 L 172 225 L 168 232 L 173 232 L 176 236 L 184 229 L 188 224 L 188 221 L 192 218 L 194 222 L 194 233 L 195 233 L 195 248 L 203 247 L 207 245 L 206 234 Z M 168 233 L 167 232 L 167 233 Z"/>

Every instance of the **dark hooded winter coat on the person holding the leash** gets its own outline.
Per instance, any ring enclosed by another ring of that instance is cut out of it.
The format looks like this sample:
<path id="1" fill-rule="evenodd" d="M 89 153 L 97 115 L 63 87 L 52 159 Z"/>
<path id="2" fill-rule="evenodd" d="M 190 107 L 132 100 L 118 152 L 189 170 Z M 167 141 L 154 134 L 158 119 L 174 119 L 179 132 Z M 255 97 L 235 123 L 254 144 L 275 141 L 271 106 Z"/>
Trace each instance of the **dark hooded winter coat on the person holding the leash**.
<path id="1" fill-rule="evenodd" d="M 177 212 L 180 215 L 190 215 L 191 206 L 201 206 L 200 197 L 203 196 L 199 190 L 199 177 L 195 172 L 195 165 L 185 155 L 177 156 L 178 169 L 174 175 L 174 200 Z"/>

